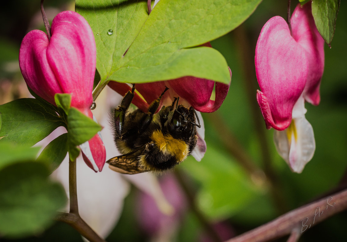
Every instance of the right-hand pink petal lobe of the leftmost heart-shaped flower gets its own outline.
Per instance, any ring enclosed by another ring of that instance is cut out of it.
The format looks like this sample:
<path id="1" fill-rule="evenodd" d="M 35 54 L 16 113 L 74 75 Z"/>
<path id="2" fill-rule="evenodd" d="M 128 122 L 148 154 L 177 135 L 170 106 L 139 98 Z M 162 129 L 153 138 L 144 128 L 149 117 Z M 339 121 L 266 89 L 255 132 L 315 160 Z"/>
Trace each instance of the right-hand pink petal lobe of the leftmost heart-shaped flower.
<path id="1" fill-rule="evenodd" d="M 88 22 L 78 13 L 64 11 L 52 21 L 47 59 L 71 106 L 89 106 L 96 68 L 96 45 Z"/>

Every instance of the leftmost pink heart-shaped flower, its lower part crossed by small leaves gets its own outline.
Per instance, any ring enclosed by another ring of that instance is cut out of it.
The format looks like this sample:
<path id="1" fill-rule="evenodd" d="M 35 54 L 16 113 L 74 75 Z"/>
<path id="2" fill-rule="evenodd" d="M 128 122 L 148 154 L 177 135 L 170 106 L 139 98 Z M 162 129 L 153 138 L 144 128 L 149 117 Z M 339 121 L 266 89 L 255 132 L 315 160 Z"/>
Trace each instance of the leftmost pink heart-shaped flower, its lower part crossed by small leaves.
<path id="1" fill-rule="evenodd" d="M 41 30 L 30 31 L 20 46 L 19 67 L 29 88 L 44 100 L 56 105 L 54 94 L 69 93 L 71 106 L 93 118 L 96 46 L 92 29 L 81 15 L 59 13 L 52 21 L 50 39 Z M 106 158 L 101 137 L 96 134 L 86 143 L 90 147 L 82 148 L 86 163 L 101 171 Z"/>

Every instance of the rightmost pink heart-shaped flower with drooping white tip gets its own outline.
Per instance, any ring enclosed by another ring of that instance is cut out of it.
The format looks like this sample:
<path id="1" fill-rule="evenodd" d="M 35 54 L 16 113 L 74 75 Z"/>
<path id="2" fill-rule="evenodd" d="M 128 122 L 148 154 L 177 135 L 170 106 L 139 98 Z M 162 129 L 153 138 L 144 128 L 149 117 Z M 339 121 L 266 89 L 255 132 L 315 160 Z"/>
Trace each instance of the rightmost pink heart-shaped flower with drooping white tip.
<path id="1" fill-rule="evenodd" d="M 255 49 L 255 69 L 261 91 L 257 101 L 266 128 L 275 129 L 279 154 L 301 173 L 315 150 L 304 102 L 318 105 L 324 69 L 324 40 L 313 20 L 311 2 L 295 8 L 287 22 L 271 18 L 261 30 Z"/>

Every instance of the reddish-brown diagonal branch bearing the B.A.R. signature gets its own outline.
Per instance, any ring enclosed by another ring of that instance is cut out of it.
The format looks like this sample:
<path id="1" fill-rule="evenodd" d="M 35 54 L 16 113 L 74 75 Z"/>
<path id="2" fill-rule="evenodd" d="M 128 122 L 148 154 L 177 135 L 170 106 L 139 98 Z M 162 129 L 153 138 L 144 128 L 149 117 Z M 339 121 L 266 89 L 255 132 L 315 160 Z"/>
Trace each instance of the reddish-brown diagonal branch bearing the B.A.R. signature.
<path id="1" fill-rule="evenodd" d="M 227 242 L 265 242 L 291 233 L 294 239 L 314 225 L 347 209 L 347 189 L 299 207 Z M 295 235 L 293 231 L 297 230 Z"/>

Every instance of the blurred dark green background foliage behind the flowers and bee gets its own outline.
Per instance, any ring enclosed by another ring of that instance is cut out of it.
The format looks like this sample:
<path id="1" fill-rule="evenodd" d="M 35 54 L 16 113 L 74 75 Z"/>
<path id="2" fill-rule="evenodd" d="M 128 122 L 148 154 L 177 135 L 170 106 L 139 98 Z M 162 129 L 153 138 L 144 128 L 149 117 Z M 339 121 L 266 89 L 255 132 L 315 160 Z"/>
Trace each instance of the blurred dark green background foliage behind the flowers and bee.
<path id="1" fill-rule="evenodd" d="M 46 0 L 45 9 L 59 11 L 74 2 Z M 179 169 L 188 181 L 198 208 L 211 223 L 222 221 L 234 234 L 251 230 L 294 208 L 334 190 L 346 171 L 347 157 L 347 7 L 341 2 L 331 49 L 325 46 L 325 68 L 319 106 L 305 105 L 312 124 L 316 151 L 302 174 L 294 174 L 277 154 L 256 103 L 254 50 L 265 22 L 286 18 L 287 1 L 264 0 L 241 26 L 211 42 L 225 56 L 231 71 L 230 90 L 221 108 L 203 114 L 207 151 L 201 162 L 189 157 Z M 297 1 L 292 0 L 292 11 Z M 30 30 L 39 1 L 6 1 L 1 7 L 0 84 L 22 82 L 18 52 Z M 40 18 L 39 18 L 40 19 Z M 42 19 L 41 19 L 42 20 Z M 8 93 L 0 92 L 5 102 Z M 20 92 L 11 90 L 11 98 Z M 1 103 L 2 104 L 2 103 Z M 124 210 L 108 241 L 150 241 L 136 220 L 137 189 L 132 188 Z M 298 218 L 300 221 L 303 218 Z M 308 229 L 300 241 L 344 241 L 347 212 Z M 203 228 L 188 210 L 181 218 L 175 241 L 201 241 Z M 131 232 L 130 232 L 131 231 Z M 7 240 L 3 240 L 7 241 Z M 10 241 L 82 241 L 63 223 L 31 238 Z M 286 238 L 277 241 L 286 241 Z"/>

